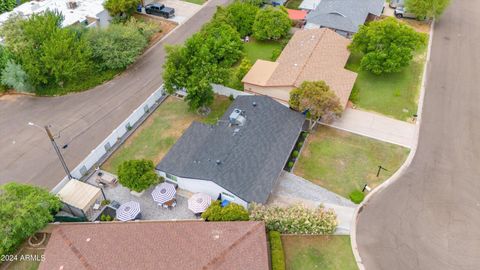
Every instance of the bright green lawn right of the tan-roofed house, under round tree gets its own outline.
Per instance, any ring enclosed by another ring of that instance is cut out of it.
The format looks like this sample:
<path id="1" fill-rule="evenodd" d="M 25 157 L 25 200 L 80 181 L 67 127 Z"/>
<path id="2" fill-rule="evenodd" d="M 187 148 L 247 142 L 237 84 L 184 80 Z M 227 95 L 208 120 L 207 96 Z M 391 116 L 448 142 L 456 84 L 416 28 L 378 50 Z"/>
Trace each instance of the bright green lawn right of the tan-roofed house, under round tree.
<path id="1" fill-rule="evenodd" d="M 346 68 L 358 73 L 350 100 L 359 108 L 408 121 L 417 113 L 426 49 L 420 50 L 403 71 L 374 75 L 359 70 L 361 57 L 352 54 Z"/>

